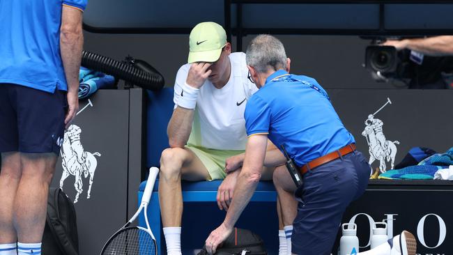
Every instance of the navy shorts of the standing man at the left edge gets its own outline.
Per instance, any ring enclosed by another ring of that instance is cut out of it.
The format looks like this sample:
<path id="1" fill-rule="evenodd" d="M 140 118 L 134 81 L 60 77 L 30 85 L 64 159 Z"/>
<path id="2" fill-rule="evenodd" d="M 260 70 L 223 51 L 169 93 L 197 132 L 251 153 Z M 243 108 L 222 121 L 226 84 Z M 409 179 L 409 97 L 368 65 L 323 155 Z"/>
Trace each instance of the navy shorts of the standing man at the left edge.
<path id="1" fill-rule="evenodd" d="M 0 153 L 58 155 L 67 109 L 66 91 L 0 84 Z"/>

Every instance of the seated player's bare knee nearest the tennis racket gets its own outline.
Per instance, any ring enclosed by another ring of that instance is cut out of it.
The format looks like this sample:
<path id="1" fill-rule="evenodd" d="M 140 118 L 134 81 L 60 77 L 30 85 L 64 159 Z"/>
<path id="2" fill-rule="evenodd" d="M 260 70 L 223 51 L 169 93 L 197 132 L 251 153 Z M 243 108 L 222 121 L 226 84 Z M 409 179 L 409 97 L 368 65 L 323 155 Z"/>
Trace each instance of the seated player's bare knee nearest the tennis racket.
<path id="1" fill-rule="evenodd" d="M 185 159 L 183 148 L 166 148 L 160 156 L 160 175 L 174 175 L 181 173 Z"/>

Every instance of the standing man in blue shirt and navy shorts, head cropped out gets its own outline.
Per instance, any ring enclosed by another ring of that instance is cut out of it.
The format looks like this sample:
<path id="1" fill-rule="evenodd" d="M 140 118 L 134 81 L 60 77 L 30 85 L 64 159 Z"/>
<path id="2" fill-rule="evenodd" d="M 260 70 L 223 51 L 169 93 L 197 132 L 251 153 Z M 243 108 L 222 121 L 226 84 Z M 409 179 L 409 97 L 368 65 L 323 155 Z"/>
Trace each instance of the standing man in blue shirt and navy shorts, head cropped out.
<path id="1" fill-rule="evenodd" d="M 79 107 L 86 0 L 0 0 L 0 255 L 41 254 L 47 192 Z"/>

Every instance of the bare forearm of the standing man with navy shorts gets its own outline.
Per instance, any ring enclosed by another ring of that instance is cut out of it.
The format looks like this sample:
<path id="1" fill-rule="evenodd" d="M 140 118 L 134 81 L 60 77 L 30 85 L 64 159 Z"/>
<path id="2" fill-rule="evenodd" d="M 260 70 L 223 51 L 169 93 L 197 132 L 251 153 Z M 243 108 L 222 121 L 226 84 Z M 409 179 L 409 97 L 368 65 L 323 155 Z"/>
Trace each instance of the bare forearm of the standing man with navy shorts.
<path id="1" fill-rule="evenodd" d="M 68 83 L 68 93 L 77 93 L 79 89 L 79 69 L 83 45 L 82 24 L 74 27 L 61 27 L 60 53 Z"/>

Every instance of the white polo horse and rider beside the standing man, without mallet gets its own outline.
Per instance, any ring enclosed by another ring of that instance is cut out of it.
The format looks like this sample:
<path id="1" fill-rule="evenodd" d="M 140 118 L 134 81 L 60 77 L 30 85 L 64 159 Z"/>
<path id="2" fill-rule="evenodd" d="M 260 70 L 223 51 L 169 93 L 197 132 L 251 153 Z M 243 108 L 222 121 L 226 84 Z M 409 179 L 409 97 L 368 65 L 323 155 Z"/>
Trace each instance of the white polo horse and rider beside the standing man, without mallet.
<path id="1" fill-rule="evenodd" d="M 90 153 L 84 151 L 82 143 L 80 142 L 80 134 L 82 129 L 77 125 L 70 125 L 64 134 L 63 144 L 61 146 L 61 166 L 63 167 L 63 174 L 60 179 L 60 188 L 63 190 L 63 183 L 68 176 L 75 176 L 74 187 L 77 192 L 74 203 L 79 201 L 79 195 L 82 194 L 82 174 L 84 178 L 90 176 L 88 194 L 86 199 L 91 196 L 91 186 L 93 185 L 93 178 L 98 160 L 94 156 L 100 157 L 100 153 Z"/>

